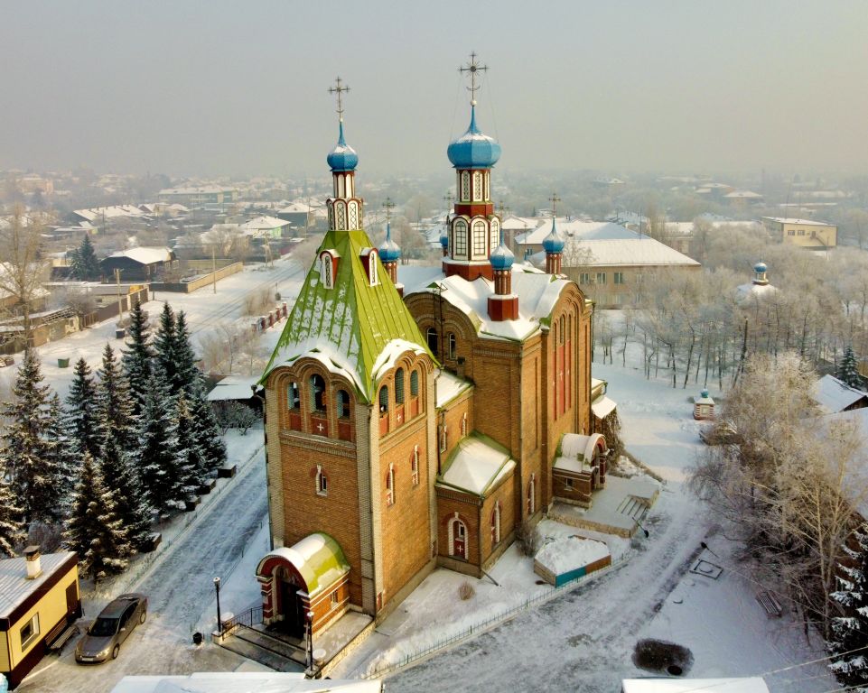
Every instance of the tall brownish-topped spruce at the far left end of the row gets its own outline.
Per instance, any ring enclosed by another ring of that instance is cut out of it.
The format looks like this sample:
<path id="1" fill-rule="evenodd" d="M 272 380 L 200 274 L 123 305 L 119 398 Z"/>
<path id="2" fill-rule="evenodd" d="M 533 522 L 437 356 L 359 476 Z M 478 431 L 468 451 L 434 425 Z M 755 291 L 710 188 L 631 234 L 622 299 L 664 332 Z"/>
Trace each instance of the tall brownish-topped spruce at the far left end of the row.
<path id="1" fill-rule="evenodd" d="M 6 402 L 3 416 L 4 467 L 12 490 L 22 504 L 24 522 L 51 522 L 61 514 L 61 472 L 47 441 L 50 428 L 48 385 L 33 349 L 24 350 L 14 387 L 14 402 Z"/>

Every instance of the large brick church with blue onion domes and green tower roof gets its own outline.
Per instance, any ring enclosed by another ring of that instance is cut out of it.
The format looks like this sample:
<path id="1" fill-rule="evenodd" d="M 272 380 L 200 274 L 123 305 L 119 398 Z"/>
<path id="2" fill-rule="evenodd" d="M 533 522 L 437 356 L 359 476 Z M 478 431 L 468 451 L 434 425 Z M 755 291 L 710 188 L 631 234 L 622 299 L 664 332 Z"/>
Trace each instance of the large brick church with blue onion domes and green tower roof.
<path id="1" fill-rule="evenodd" d="M 374 247 L 364 229 L 331 88 L 329 230 L 262 377 L 274 549 L 257 579 L 264 623 L 289 635 L 348 609 L 381 620 L 438 566 L 481 577 L 555 498 L 588 506 L 605 484 L 593 306 L 560 274 L 554 223 L 545 271 L 504 244 L 478 69 L 471 56 L 470 125 L 447 148 L 442 265 L 401 273 L 390 231 Z"/>

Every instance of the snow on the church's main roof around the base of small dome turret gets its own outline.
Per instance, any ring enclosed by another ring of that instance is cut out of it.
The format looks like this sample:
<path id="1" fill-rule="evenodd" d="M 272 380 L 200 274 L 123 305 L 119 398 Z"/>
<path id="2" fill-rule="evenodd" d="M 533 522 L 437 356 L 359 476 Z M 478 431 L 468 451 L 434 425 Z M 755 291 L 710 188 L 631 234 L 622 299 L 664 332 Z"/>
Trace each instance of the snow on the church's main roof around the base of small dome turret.
<path id="1" fill-rule="evenodd" d="M 540 272 L 525 263 L 512 266 L 512 292 L 518 296 L 518 319 L 491 320 L 488 299 L 494 295 L 494 284 L 479 277 L 468 282 L 458 275 L 444 277 L 440 268 L 398 268 L 398 280 L 405 285 L 404 295 L 418 291 L 439 292 L 455 308 L 471 320 L 481 337 L 524 341 L 547 324 L 561 291 L 569 283 Z"/>

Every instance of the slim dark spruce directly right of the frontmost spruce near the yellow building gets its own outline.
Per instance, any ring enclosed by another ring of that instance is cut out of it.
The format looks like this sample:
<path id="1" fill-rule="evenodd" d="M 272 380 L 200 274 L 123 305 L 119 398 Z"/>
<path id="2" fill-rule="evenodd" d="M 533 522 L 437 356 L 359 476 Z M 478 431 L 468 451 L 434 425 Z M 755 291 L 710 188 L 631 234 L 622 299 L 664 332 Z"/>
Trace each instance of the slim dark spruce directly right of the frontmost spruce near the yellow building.
<path id="1" fill-rule="evenodd" d="M 140 550 L 151 531 L 151 509 L 145 503 L 130 454 L 119 445 L 117 431 L 111 423 L 104 429 L 99 470 L 115 499 L 117 517 L 123 522 L 127 541 L 132 549 Z"/>

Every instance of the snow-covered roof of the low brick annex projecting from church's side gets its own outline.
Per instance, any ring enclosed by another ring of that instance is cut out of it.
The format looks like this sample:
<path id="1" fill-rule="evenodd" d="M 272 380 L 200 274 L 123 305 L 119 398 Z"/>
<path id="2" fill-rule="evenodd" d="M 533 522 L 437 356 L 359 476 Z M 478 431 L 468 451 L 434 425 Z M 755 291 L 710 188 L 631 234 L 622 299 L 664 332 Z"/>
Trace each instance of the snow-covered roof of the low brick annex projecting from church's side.
<path id="1" fill-rule="evenodd" d="M 515 467 L 516 462 L 506 448 L 474 432 L 455 446 L 437 485 L 482 496 Z"/>

